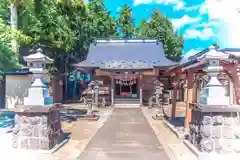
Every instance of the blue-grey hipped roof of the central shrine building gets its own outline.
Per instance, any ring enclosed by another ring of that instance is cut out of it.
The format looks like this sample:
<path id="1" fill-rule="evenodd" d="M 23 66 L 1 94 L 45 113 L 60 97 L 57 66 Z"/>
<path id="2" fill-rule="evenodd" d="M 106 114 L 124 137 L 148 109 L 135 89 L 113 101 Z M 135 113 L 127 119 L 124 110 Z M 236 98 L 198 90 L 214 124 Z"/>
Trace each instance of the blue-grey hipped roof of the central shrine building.
<path id="1" fill-rule="evenodd" d="M 86 60 L 74 66 L 146 69 L 176 64 L 165 57 L 161 42 L 141 39 L 115 39 L 97 40 L 96 44 L 90 46 Z"/>

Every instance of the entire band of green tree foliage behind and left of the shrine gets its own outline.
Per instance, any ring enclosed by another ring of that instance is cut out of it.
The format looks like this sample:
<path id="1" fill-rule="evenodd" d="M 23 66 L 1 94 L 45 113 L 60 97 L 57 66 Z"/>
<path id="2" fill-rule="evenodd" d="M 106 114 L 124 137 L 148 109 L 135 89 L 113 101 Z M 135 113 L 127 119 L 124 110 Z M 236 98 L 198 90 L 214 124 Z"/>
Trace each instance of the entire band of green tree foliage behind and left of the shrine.
<path id="1" fill-rule="evenodd" d="M 18 7 L 18 30 L 8 25 L 10 4 Z M 18 43 L 28 42 L 31 47 L 41 46 L 55 59 L 59 72 L 63 71 L 64 63 L 83 60 L 95 38 L 157 38 L 163 42 L 168 58 L 181 55 L 183 38 L 159 10 L 138 28 L 128 5 L 123 6 L 118 19 L 110 14 L 103 0 L 89 0 L 88 4 L 84 0 L 0 0 L 0 46 L 9 55 L 13 38 Z"/>

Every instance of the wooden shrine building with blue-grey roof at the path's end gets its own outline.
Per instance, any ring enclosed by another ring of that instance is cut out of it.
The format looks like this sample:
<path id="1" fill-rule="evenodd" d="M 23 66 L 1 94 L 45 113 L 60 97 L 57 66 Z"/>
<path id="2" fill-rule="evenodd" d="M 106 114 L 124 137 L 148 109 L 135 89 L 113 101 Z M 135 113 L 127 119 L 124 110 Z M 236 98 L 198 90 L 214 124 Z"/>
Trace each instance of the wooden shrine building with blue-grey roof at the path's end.
<path id="1" fill-rule="evenodd" d="M 154 81 L 174 65 L 165 57 L 162 42 L 155 39 L 98 39 L 86 59 L 73 66 L 91 70 L 92 80 L 103 82 L 100 96 L 105 95 L 110 105 L 140 106 L 154 94 Z M 161 81 L 166 90 L 171 89 L 168 78 Z"/>

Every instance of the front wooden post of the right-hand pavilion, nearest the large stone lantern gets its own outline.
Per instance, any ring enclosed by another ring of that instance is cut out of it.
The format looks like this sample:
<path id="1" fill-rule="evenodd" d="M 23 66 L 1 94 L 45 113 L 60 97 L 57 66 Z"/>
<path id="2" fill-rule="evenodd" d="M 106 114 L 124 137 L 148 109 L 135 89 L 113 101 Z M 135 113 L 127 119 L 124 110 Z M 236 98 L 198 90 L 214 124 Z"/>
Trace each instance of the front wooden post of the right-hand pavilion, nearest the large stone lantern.
<path id="1" fill-rule="evenodd" d="M 189 122 L 191 119 L 190 104 L 193 101 L 193 72 L 188 70 L 187 72 L 187 105 L 185 112 L 185 129 L 189 129 Z"/>

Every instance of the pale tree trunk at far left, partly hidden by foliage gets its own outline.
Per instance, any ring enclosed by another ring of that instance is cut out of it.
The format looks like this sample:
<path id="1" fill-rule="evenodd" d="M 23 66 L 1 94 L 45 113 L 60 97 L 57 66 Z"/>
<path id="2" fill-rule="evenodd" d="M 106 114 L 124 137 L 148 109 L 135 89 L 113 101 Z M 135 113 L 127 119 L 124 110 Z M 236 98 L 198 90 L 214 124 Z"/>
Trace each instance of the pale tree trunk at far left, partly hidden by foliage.
<path id="1" fill-rule="evenodd" d="M 11 13 L 11 27 L 14 29 L 17 29 L 17 24 L 18 24 L 18 13 L 17 13 L 17 5 L 11 4 L 10 5 L 10 13 Z M 12 45 L 12 50 L 16 54 L 18 51 L 18 44 L 15 39 L 12 40 L 11 42 Z"/>

